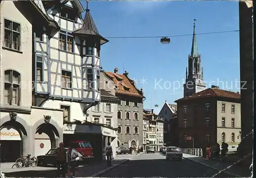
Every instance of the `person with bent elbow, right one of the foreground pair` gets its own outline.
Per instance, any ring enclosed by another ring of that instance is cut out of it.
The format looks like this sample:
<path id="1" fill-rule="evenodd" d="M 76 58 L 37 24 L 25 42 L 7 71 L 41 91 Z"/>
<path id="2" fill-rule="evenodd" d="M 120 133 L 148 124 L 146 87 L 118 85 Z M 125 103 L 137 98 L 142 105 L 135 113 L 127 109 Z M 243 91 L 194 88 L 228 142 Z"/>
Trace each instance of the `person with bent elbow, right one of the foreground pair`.
<path id="1" fill-rule="evenodd" d="M 75 163 L 76 158 L 78 157 L 78 154 L 75 152 L 75 150 L 69 146 L 68 154 L 67 154 L 67 168 L 68 168 L 68 177 L 70 175 L 70 170 L 73 173 L 72 177 L 75 177 Z"/>

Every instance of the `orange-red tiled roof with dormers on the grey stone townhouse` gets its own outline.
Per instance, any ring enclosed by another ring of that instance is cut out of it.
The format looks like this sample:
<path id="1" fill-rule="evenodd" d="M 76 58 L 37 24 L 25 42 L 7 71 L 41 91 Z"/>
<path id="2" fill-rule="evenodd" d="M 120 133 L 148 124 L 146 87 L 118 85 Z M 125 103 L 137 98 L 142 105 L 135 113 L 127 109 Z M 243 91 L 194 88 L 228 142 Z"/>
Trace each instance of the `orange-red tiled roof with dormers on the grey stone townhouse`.
<path id="1" fill-rule="evenodd" d="M 144 97 L 138 89 L 136 89 L 134 82 L 131 81 L 123 74 L 113 73 L 113 72 L 105 72 L 105 75 L 110 78 L 117 86 L 116 93 L 124 94 L 129 96 L 137 96 Z"/>

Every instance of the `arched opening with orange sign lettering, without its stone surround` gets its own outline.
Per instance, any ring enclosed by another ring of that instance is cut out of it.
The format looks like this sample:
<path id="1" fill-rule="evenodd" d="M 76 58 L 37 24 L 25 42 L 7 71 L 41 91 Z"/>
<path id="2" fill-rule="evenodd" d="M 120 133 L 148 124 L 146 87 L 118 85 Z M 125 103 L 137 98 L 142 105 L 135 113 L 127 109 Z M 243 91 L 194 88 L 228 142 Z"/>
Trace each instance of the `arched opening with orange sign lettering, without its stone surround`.
<path id="1" fill-rule="evenodd" d="M 1 130 L 1 162 L 15 162 L 23 155 L 23 138 L 28 137 L 24 126 L 15 120 L 3 123 Z"/>

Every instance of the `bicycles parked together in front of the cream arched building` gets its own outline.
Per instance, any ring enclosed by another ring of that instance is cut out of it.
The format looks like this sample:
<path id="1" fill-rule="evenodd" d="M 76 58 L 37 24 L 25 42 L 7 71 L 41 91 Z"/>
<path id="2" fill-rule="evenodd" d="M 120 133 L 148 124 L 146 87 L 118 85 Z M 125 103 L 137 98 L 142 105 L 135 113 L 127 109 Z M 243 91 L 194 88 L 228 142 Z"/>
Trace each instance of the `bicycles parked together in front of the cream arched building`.
<path id="1" fill-rule="evenodd" d="M 12 168 L 23 168 L 23 167 L 36 167 L 37 166 L 37 158 L 36 157 L 32 157 L 30 158 L 31 155 L 28 156 L 20 156 L 20 158 L 18 158 L 15 161 L 15 164 L 12 166 Z"/>

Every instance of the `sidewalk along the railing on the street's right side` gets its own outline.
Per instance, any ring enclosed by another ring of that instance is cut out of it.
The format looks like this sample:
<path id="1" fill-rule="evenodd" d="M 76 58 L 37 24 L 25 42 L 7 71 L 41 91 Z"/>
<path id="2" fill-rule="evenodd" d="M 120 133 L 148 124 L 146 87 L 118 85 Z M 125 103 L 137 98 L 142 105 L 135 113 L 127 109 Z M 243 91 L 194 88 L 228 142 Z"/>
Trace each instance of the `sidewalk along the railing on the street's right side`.
<path id="1" fill-rule="evenodd" d="M 211 159 L 209 161 L 206 161 L 205 158 L 203 157 L 198 157 L 195 155 L 188 155 L 188 154 L 183 154 L 183 158 L 194 161 L 196 163 L 202 164 L 204 166 L 210 167 L 218 171 L 222 171 L 226 169 L 228 166 L 232 165 L 233 162 L 236 162 L 236 161 L 233 161 L 232 163 L 228 163 L 228 162 L 220 162 L 218 160 L 211 160 Z M 233 165 L 232 167 L 230 167 L 229 169 L 226 169 L 223 172 L 230 174 L 232 177 L 250 177 L 249 167 L 246 168 L 238 165 Z"/>

